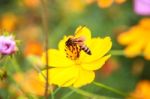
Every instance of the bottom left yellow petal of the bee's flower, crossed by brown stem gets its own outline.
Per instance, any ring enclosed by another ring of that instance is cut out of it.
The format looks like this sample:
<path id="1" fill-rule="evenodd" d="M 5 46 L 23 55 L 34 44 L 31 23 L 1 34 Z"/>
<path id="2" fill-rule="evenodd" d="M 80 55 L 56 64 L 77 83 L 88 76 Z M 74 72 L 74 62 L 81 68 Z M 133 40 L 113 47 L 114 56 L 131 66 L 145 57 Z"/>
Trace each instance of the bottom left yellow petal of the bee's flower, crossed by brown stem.
<path id="1" fill-rule="evenodd" d="M 78 77 L 78 72 L 78 68 L 74 66 L 68 68 L 52 68 L 49 70 L 49 84 L 56 84 L 60 87 L 71 86 Z M 46 70 L 42 71 L 42 73 L 45 75 Z M 40 79 L 44 79 L 42 74 L 40 74 Z"/>

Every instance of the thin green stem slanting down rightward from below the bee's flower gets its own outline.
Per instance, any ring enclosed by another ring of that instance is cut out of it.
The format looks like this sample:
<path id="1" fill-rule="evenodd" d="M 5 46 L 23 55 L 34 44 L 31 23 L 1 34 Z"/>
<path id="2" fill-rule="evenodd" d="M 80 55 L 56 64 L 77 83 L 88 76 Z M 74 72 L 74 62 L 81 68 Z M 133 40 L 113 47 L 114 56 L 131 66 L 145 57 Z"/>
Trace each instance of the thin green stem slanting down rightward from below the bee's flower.
<path id="1" fill-rule="evenodd" d="M 111 92 L 114 92 L 114 93 L 116 93 L 116 94 L 118 94 L 118 95 L 127 96 L 127 94 L 125 94 L 124 92 L 121 92 L 121 91 L 119 91 L 119 90 L 117 90 L 117 89 L 114 89 L 114 88 L 109 87 L 109 86 L 107 86 L 107 85 L 104 85 L 104 84 L 102 84 L 102 83 L 93 82 L 93 84 L 96 85 L 96 86 L 99 86 L 99 87 L 101 87 L 101 88 L 107 89 L 107 90 L 109 90 L 109 91 L 111 91 Z"/>

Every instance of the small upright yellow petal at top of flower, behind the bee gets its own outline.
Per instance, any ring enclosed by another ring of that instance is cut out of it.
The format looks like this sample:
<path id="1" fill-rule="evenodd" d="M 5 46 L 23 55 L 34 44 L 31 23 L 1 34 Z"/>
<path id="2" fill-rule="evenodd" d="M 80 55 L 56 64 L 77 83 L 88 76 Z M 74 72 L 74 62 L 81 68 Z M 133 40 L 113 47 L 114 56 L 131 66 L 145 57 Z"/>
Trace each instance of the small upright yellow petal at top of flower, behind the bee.
<path id="1" fill-rule="evenodd" d="M 89 44 L 91 40 L 91 31 L 85 27 L 85 26 L 79 26 L 75 31 L 75 37 L 84 37 L 85 38 L 85 44 Z"/>

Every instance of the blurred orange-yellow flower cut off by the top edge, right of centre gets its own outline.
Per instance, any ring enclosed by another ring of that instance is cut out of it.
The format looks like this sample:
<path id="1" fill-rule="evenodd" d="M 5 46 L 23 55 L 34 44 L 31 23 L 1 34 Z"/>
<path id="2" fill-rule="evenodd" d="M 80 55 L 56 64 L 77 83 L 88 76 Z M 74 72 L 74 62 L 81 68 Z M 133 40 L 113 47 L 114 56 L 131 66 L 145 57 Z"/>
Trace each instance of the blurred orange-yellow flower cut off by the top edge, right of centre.
<path id="1" fill-rule="evenodd" d="M 113 3 L 117 3 L 117 4 L 122 4 L 124 3 L 126 0 L 86 0 L 87 3 L 93 3 L 93 2 L 97 2 L 98 6 L 100 8 L 108 8 L 110 7 Z"/>

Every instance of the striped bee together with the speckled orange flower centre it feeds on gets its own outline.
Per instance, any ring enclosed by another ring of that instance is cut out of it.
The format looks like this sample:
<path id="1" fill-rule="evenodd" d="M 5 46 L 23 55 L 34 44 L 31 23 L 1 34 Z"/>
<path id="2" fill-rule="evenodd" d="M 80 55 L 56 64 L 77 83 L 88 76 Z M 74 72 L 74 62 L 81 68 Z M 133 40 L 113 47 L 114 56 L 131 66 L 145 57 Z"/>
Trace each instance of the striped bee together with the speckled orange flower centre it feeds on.
<path id="1" fill-rule="evenodd" d="M 84 28 L 84 27 L 82 27 Z M 81 29 L 82 29 L 81 28 Z M 81 30 L 80 29 L 80 30 Z M 79 30 L 79 31 L 80 31 Z M 79 32 L 77 31 L 77 32 Z M 91 50 L 84 44 L 85 37 L 70 37 L 66 42 L 66 53 L 67 57 L 70 57 L 71 59 L 77 59 L 80 56 L 80 51 L 83 50 L 86 54 L 92 55 Z"/>

